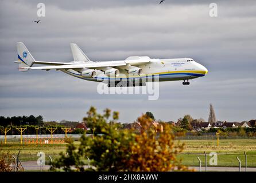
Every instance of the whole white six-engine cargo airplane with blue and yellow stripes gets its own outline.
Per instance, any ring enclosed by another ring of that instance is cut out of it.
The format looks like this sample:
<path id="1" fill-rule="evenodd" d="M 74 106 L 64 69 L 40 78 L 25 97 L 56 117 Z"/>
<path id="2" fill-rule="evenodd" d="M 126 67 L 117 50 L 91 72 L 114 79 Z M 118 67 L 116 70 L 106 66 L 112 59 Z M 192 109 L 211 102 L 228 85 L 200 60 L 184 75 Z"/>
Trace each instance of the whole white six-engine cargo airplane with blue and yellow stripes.
<path id="1" fill-rule="evenodd" d="M 131 56 L 121 61 L 91 61 L 75 44 L 71 43 L 73 61 L 48 62 L 37 61 L 26 48 L 24 43 L 17 42 L 18 61 L 20 71 L 28 70 L 60 70 L 80 79 L 105 82 L 108 87 L 145 86 L 146 82 L 155 81 L 183 81 L 189 85 L 189 80 L 203 77 L 208 70 L 192 58 L 149 58 L 147 56 Z M 34 64 L 47 65 L 37 66 Z M 111 83 L 114 83 L 111 85 Z"/>

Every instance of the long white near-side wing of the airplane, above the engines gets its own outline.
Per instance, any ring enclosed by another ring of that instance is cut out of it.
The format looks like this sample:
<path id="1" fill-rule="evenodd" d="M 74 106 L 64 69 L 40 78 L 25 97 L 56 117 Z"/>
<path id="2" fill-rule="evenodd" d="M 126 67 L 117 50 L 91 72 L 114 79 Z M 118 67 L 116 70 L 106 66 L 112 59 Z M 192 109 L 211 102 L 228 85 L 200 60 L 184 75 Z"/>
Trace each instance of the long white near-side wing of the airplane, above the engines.
<path id="1" fill-rule="evenodd" d="M 128 64 L 137 66 L 149 63 L 150 61 L 129 60 L 129 61 L 107 61 L 107 62 L 88 62 L 76 63 L 71 65 L 55 65 L 55 66 L 40 66 L 40 67 L 22 67 L 21 69 L 32 70 L 51 70 L 51 69 L 82 69 L 82 68 L 97 68 L 97 67 L 115 67 L 126 66 Z"/>

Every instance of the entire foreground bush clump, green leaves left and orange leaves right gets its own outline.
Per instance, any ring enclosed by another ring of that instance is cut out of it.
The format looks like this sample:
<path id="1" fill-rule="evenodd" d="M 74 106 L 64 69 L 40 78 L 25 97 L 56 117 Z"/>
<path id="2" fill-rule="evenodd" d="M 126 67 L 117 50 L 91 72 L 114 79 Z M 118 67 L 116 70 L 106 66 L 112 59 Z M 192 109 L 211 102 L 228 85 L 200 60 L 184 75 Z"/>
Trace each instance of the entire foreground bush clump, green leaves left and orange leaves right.
<path id="1" fill-rule="evenodd" d="M 95 128 L 94 138 L 82 136 L 80 145 L 68 145 L 69 156 L 61 154 L 59 159 L 52 162 L 52 170 L 65 171 L 170 171 L 187 170 L 177 161 L 177 154 L 183 150 L 183 145 L 174 145 L 174 136 L 170 133 L 169 124 L 165 124 L 164 133 L 150 130 L 152 118 L 144 114 L 138 118 L 142 124 L 142 133 L 134 130 L 121 129 L 121 124 L 110 124 L 110 110 L 98 114 L 94 107 L 87 112 L 83 120 L 89 128 Z M 107 114 L 106 114 L 107 113 Z M 112 118 L 118 119 L 118 113 Z M 114 120 L 114 119 L 113 119 Z M 85 157 L 90 157 L 93 169 L 85 168 Z"/>

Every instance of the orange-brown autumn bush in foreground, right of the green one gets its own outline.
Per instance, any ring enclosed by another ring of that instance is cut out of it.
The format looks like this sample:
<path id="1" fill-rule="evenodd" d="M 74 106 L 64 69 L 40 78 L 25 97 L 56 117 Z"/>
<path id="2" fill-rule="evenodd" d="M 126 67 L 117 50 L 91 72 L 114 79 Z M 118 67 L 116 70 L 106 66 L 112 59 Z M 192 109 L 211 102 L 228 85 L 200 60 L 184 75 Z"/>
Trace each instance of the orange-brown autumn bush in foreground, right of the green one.
<path id="1" fill-rule="evenodd" d="M 150 130 L 152 118 L 149 118 L 148 115 L 139 117 L 138 122 L 142 126 L 142 133 L 135 136 L 135 142 L 130 142 L 132 153 L 127 161 L 128 171 L 188 170 L 177 160 L 177 154 L 183 151 L 184 144 L 174 145 L 174 135 L 170 133 L 170 124 L 162 124 L 164 130 L 157 134 Z"/>

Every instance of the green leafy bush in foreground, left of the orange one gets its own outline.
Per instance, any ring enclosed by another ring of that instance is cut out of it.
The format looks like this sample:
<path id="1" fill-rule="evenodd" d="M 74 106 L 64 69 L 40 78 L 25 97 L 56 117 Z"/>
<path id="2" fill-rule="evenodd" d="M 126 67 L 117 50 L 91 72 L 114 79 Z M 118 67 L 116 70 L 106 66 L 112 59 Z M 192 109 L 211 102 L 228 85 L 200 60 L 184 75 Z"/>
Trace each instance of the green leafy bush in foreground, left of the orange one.
<path id="1" fill-rule="evenodd" d="M 94 166 L 97 171 L 118 171 L 125 170 L 123 162 L 129 158 L 130 149 L 129 143 L 134 141 L 134 133 L 129 133 L 129 130 L 117 130 L 119 124 L 107 123 L 107 118 L 110 117 L 110 110 L 105 110 L 105 114 L 101 115 L 96 112 L 94 107 L 91 107 L 87 112 L 87 117 L 83 120 L 87 122 L 88 128 L 95 129 L 95 137 L 82 136 L 80 138 L 80 146 L 76 149 L 73 144 L 68 145 L 68 154 L 61 154 L 59 160 L 53 162 L 52 169 L 63 168 L 66 171 L 71 171 L 71 166 L 77 171 L 84 171 L 84 157 L 88 156 L 94 161 Z M 118 113 L 113 113 L 113 120 L 118 119 Z M 103 134 L 103 135 L 102 135 Z"/>

